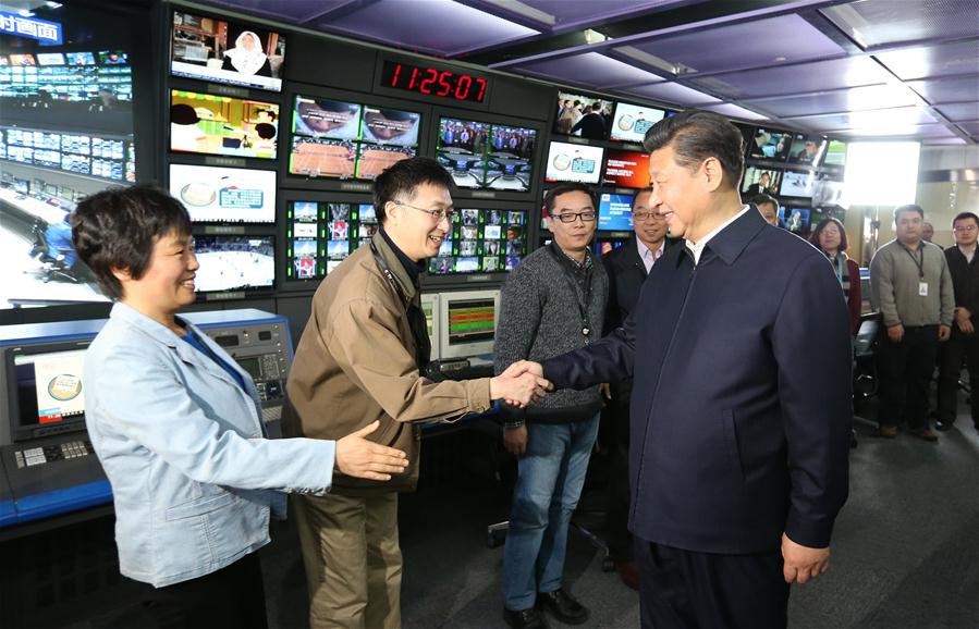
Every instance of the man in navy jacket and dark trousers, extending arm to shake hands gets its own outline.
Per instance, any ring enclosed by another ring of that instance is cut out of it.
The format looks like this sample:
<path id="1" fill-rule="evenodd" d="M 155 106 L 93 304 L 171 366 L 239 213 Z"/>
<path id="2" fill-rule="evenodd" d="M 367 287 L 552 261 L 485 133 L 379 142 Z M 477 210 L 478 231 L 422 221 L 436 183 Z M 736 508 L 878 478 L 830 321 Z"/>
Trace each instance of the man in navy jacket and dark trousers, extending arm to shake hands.
<path id="1" fill-rule="evenodd" d="M 742 205 L 742 141 L 698 110 L 646 134 L 652 200 L 686 243 L 622 328 L 530 366 L 559 387 L 635 375 L 644 627 L 784 627 L 788 584 L 827 570 L 846 501 L 846 304 L 819 251 Z"/>

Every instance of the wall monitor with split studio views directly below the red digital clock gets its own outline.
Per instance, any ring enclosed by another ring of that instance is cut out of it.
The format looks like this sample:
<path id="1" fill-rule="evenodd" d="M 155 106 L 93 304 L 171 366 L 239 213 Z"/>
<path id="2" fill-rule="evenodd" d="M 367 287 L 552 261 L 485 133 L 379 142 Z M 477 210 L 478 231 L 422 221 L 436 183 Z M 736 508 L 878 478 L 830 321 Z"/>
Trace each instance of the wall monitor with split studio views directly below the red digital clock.
<path id="1" fill-rule="evenodd" d="M 534 178 L 536 146 L 533 128 L 443 118 L 436 159 L 461 188 L 525 193 Z"/>

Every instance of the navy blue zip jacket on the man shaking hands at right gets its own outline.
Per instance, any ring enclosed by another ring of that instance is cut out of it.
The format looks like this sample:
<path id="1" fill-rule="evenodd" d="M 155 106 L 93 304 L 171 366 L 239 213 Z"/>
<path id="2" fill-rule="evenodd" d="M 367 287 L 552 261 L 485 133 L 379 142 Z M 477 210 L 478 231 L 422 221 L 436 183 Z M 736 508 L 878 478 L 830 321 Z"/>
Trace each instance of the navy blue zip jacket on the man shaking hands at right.
<path id="1" fill-rule="evenodd" d="M 706 553 L 830 543 L 846 502 L 852 349 L 822 256 L 749 210 L 700 263 L 669 248 L 636 311 L 543 362 L 559 387 L 635 375 L 629 529 Z"/>

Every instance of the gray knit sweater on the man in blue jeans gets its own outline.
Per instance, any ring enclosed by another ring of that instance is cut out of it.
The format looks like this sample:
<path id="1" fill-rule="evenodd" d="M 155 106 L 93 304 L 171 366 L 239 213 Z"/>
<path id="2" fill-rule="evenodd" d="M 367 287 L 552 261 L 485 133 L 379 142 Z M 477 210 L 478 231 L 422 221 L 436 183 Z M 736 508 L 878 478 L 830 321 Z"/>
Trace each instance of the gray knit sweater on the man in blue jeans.
<path id="1" fill-rule="evenodd" d="M 553 249 L 563 256 L 556 246 Z M 564 264 L 574 269 L 575 282 L 565 279 Z M 579 309 L 579 303 L 585 298 L 585 272 L 575 269 L 571 260 L 555 258 L 549 246 L 531 252 L 510 273 L 500 298 L 497 341 L 493 345 L 497 373 L 517 360 L 539 362 L 585 345 Z M 591 273 L 591 299 L 588 304 L 590 337 L 597 341 L 601 337 L 609 278 L 593 258 L 587 272 Z M 572 286 L 578 297 L 572 293 Z M 600 409 L 601 397 L 597 386 L 585 391 L 567 388 L 549 393 L 525 410 L 504 405 L 507 421 L 511 422 L 522 419 L 548 423 L 578 421 L 595 416 Z"/>

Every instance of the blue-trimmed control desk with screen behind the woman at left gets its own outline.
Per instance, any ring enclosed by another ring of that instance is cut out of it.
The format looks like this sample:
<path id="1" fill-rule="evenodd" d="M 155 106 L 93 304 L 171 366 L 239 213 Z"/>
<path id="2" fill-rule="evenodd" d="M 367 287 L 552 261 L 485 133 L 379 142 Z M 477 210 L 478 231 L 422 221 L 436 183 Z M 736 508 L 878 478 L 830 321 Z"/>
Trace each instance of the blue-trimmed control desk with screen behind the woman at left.
<path id="1" fill-rule="evenodd" d="M 182 317 L 252 375 L 269 434 L 279 436 L 292 365 L 289 321 L 253 309 Z M 0 528 L 112 501 L 85 431 L 84 355 L 105 323 L 0 328 Z"/>

